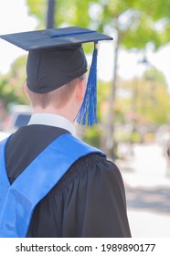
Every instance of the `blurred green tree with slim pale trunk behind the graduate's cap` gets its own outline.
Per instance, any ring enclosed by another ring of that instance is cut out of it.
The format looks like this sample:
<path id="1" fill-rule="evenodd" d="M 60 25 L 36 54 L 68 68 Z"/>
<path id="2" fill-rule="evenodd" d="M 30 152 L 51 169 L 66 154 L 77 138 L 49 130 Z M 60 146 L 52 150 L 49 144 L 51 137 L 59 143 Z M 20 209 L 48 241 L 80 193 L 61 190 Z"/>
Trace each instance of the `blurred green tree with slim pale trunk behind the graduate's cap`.
<path id="1" fill-rule="evenodd" d="M 43 0 L 27 0 L 30 13 L 44 19 Z M 120 48 L 142 49 L 148 42 L 157 49 L 169 41 L 170 0 L 58 0 L 56 25 L 90 27 L 114 37 L 114 70 L 106 131 L 108 153 L 113 158 L 114 102 L 117 87 L 117 59 Z"/>

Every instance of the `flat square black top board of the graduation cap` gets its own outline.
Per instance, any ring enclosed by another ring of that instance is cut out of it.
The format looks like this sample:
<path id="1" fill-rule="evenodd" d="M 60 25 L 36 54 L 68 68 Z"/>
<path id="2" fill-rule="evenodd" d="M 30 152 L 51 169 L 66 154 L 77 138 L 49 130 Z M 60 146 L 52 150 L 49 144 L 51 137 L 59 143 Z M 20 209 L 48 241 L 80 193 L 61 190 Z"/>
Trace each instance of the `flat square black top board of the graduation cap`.
<path id="1" fill-rule="evenodd" d="M 0 35 L 0 37 L 25 50 L 70 47 L 87 42 L 112 40 L 112 37 L 84 27 L 43 29 Z"/>

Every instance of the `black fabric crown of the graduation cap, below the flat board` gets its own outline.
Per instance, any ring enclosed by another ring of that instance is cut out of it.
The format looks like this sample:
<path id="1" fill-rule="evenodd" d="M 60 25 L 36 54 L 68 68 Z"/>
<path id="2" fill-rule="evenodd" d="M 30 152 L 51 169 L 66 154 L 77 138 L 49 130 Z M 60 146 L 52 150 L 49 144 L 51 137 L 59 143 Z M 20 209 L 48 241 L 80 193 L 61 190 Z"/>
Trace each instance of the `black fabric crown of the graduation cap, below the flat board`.
<path id="1" fill-rule="evenodd" d="M 27 86 L 37 93 L 54 91 L 86 72 L 87 60 L 80 45 L 28 53 Z"/>

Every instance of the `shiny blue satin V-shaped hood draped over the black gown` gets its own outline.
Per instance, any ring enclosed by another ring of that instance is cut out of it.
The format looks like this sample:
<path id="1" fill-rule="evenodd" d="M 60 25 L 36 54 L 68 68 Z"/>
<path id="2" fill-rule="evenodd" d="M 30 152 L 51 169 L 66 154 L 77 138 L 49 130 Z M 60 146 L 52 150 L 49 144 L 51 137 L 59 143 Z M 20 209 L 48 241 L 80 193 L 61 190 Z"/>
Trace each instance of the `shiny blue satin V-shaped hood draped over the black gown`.
<path id="1" fill-rule="evenodd" d="M 0 237 L 26 237 L 37 203 L 70 165 L 83 155 L 100 153 L 70 134 L 63 134 L 37 156 L 10 186 L 5 170 L 5 143 L 0 145 Z"/>

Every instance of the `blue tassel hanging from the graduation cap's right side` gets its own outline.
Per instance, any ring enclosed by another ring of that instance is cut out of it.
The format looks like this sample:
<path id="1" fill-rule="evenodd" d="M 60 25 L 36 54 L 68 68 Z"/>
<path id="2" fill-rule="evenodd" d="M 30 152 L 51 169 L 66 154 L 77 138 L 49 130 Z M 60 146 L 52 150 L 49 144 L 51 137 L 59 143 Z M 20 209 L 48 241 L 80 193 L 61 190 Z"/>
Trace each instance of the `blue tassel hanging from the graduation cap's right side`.
<path id="1" fill-rule="evenodd" d="M 90 74 L 84 100 L 76 117 L 77 123 L 93 125 L 97 123 L 97 42 L 94 43 Z"/>

